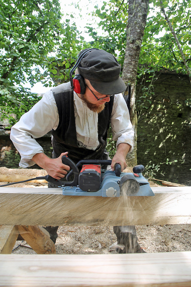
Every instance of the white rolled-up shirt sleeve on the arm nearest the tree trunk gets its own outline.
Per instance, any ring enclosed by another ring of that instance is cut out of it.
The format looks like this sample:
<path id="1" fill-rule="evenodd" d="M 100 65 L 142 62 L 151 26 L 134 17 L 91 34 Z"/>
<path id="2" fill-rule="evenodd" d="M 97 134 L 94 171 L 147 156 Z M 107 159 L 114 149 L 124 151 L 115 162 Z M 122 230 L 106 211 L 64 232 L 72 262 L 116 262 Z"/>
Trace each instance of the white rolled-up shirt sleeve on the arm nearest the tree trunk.
<path id="1" fill-rule="evenodd" d="M 111 127 L 113 140 L 117 140 L 116 147 L 120 143 L 128 143 L 133 149 L 134 129 L 130 121 L 129 110 L 122 94 L 114 96 L 113 110 L 111 114 Z"/>

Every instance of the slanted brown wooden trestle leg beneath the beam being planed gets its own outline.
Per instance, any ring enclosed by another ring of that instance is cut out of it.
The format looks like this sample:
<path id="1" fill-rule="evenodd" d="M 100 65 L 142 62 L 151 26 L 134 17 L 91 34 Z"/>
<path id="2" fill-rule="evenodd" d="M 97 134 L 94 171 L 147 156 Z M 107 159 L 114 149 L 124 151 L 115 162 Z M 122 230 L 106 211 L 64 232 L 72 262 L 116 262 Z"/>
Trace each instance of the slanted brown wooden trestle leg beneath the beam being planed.
<path id="1" fill-rule="evenodd" d="M 37 254 L 56 254 L 53 241 L 48 232 L 38 226 L 18 226 L 19 233 Z"/>

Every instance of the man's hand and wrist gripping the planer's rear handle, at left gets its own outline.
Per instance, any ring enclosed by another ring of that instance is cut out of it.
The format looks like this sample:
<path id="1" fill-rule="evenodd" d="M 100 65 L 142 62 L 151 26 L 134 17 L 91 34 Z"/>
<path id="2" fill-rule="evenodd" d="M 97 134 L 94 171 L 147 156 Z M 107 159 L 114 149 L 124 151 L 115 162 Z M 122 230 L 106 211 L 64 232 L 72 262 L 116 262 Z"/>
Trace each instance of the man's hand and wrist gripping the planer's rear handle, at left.
<path id="1" fill-rule="evenodd" d="M 68 152 L 62 153 L 57 159 L 50 159 L 45 154 L 36 154 L 32 160 L 55 179 L 61 179 L 70 170 L 70 167 L 62 163 L 62 157 L 67 156 Z"/>

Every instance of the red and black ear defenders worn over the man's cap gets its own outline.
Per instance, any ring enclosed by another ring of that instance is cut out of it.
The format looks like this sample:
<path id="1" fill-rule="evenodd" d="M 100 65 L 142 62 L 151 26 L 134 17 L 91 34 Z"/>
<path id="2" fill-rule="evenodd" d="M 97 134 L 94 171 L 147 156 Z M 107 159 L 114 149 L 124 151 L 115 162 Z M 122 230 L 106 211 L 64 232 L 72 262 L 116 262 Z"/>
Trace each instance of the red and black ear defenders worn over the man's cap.
<path id="1" fill-rule="evenodd" d="M 83 76 L 80 74 L 77 74 L 73 79 L 72 79 L 72 74 L 73 71 L 78 67 L 79 63 L 81 62 L 82 58 L 91 50 L 99 50 L 97 48 L 92 48 L 92 49 L 87 49 L 85 50 L 77 59 L 77 62 L 73 66 L 73 68 L 70 70 L 70 85 L 71 88 L 76 92 L 77 94 L 84 95 L 85 94 L 85 81 Z"/>

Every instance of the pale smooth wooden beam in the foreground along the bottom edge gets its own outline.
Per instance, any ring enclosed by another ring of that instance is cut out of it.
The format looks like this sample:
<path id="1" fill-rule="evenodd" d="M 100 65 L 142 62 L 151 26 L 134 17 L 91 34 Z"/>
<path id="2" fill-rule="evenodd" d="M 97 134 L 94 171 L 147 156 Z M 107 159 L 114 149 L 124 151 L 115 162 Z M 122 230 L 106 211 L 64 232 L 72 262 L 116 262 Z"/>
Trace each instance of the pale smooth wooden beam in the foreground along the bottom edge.
<path id="1" fill-rule="evenodd" d="M 0 256 L 0 286 L 191 285 L 191 252 Z"/>

